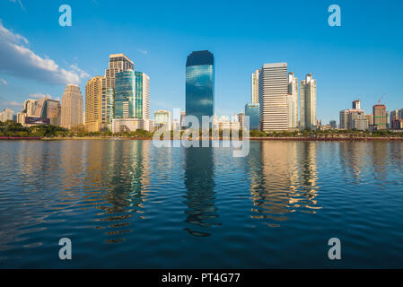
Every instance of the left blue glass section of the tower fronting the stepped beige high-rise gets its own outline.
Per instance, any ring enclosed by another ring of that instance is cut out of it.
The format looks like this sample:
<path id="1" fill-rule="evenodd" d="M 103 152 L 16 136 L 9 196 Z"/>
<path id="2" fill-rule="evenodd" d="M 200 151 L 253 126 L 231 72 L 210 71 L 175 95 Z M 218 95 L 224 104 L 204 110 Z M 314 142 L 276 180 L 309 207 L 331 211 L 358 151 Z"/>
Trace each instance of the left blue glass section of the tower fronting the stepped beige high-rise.
<path id="1" fill-rule="evenodd" d="M 136 117 L 135 71 L 115 75 L 115 118 Z"/>

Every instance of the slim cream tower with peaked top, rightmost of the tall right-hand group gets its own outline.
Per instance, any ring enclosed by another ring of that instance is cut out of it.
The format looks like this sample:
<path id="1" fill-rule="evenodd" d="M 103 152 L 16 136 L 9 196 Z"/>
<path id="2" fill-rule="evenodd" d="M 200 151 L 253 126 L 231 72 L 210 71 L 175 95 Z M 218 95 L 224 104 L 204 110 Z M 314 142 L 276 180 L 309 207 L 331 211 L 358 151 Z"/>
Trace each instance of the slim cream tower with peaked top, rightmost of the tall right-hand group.
<path id="1" fill-rule="evenodd" d="M 301 129 L 316 126 L 316 80 L 307 74 L 300 86 L 300 126 Z"/>

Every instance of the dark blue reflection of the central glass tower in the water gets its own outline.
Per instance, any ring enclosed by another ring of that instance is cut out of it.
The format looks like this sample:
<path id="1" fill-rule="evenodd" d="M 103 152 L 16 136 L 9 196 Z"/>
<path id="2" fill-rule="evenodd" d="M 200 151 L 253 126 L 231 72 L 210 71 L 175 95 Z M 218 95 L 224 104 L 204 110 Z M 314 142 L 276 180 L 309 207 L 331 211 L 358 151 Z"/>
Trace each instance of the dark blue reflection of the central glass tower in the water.
<path id="1" fill-rule="evenodd" d="M 215 207 L 215 163 L 212 147 L 185 148 L 185 230 L 194 236 L 210 236 L 206 230 L 220 225 Z"/>

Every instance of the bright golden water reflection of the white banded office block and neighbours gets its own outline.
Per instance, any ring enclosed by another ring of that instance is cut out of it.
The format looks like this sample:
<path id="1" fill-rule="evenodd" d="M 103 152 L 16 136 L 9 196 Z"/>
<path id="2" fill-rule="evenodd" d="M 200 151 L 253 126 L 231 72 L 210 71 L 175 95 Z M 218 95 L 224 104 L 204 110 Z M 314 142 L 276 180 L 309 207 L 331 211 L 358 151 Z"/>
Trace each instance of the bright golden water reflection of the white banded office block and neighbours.
<path id="1" fill-rule="evenodd" d="M 287 213 L 319 208 L 316 193 L 316 145 L 262 142 L 250 153 L 252 218 L 285 221 Z M 260 159 L 256 161 L 256 158 Z M 261 165 L 259 167 L 259 165 Z M 270 226 L 278 226 L 270 224 Z"/>

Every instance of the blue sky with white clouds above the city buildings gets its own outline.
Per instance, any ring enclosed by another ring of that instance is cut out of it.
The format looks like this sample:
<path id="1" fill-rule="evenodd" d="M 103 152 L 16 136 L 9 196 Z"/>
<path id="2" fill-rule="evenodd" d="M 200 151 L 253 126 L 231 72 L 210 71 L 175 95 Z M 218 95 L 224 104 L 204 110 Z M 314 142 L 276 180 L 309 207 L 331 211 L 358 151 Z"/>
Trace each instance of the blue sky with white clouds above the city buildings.
<path id="1" fill-rule="evenodd" d="M 61 4 L 72 7 L 72 27 L 58 24 Z M 330 4 L 341 7 L 341 27 L 328 25 Z M 388 110 L 401 109 L 402 13 L 399 0 L 0 0 L 0 109 L 61 98 L 67 82 L 84 94 L 115 53 L 150 75 L 152 112 L 184 109 L 186 57 L 202 49 L 215 55 L 218 116 L 242 112 L 250 74 L 275 62 L 300 80 L 313 74 L 325 123 L 356 99 L 371 112 L 383 94 Z"/>

